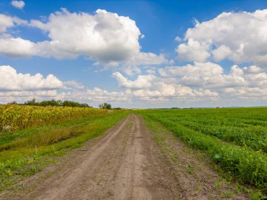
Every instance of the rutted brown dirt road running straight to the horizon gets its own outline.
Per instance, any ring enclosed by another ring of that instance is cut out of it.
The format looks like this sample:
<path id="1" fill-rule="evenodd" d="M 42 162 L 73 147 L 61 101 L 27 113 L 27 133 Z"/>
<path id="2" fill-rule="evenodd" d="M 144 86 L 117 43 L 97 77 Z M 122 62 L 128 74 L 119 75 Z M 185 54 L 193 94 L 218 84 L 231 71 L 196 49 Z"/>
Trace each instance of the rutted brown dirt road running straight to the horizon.
<path id="1" fill-rule="evenodd" d="M 20 199 L 175 199 L 177 182 L 141 117 L 130 114 Z"/>

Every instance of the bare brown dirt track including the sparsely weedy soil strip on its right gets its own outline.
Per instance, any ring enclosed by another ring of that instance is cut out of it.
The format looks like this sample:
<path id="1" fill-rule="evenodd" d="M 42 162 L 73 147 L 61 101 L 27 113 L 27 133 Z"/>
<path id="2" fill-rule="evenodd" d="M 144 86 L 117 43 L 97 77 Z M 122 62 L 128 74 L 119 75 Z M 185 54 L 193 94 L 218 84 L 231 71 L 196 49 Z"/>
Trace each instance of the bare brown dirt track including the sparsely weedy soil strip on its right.
<path id="1" fill-rule="evenodd" d="M 154 138 L 154 139 L 153 139 Z M 63 156 L 10 199 L 248 199 L 163 127 L 130 114 Z"/>

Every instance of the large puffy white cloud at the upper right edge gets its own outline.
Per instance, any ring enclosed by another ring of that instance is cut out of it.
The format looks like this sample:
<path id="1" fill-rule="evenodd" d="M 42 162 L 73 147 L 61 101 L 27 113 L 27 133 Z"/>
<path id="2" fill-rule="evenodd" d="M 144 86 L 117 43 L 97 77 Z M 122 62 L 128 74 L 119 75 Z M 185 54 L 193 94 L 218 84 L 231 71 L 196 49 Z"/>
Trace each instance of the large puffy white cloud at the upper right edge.
<path id="1" fill-rule="evenodd" d="M 204 62 L 209 58 L 254 62 L 267 66 L 267 9 L 254 13 L 221 13 L 213 20 L 195 22 L 178 45 L 178 58 Z"/>

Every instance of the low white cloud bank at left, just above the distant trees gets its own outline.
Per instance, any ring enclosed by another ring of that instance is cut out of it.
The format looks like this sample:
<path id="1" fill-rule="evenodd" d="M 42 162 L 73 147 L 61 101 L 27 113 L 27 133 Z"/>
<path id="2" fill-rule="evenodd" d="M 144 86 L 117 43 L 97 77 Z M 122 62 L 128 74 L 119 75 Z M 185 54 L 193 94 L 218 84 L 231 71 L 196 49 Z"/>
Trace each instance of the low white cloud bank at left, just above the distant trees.
<path id="1" fill-rule="evenodd" d="M 79 102 L 131 101 L 130 95 L 100 88 L 89 89 L 77 81 L 60 81 L 53 74 L 21 74 L 9 65 L 0 66 L 0 102 L 37 100 L 74 100 Z"/>

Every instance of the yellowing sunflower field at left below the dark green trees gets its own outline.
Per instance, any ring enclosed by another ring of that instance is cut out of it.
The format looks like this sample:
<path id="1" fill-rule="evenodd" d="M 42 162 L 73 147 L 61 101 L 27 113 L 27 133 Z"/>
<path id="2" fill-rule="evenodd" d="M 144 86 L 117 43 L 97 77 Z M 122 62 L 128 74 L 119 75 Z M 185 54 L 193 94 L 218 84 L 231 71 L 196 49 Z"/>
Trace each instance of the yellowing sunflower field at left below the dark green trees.
<path id="1" fill-rule="evenodd" d="M 0 105 L 0 131 L 14 131 L 31 126 L 56 124 L 106 113 L 108 113 L 106 109 L 87 107 Z"/>

